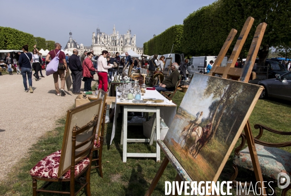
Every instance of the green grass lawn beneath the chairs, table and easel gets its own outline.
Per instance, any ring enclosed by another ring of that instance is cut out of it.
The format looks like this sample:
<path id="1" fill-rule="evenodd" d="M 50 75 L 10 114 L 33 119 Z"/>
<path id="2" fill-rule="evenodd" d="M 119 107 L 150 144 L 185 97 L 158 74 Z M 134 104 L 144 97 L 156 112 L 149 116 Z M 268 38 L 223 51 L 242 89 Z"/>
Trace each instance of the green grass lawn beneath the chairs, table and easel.
<path id="1" fill-rule="evenodd" d="M 179 105 L 184 93 L 177 92 L 174 101 Z M 291 103 L 280 99 L 259 100 L 253 113 L 250 116 L 251 126 L 255 123 L 265 124 L 281 131 L 290 131 L 291 127 Z M 53 131 L 47 132 L 29 152 L 28 158 L 23 158 L 13 171 L 9 174 L 7 180 L 0 184 L 0 195 L 4 196 L 31 196 L 32 180 L 29 174 L 32 166 L 50 153 L 61 149 L 63 133 L 65 129 L 65 116 L 58 121 L 59 127 Z M 142 196 L 146 193 L 151 180 L 154 178 L 161 163 L 156 163 L 155 159 L 146 158 L 128 158 L 127 163 L 122 163 L 122 145 L 120 145 L 121 121 L 117 122 L 117 130 L 113 144 L 110 146 L 112 123 L 107 124 L 105 132 L 105 144 L 103 147 L 102 167 L 104 178 L 101 179 L 97 170 L 91 172 L 91 193 L 93 196 Z M 258 131 L 253 130 L 254 135 Z M 129 127 L 129 135 L 141 136 L 141 128 Z M 288 141 L 286 136 L 277 136 L 266 134 L 262 137 L 268 142 Z M 290 139 L 289 139 L 290 140 Z M 238 144 L 237 144 L 238 145 Z M 286 148 L 285 148 L 286 149 Z M 291 152 L 291 148 L 287 148 Z M 128 144 L 129 152 L 155 152 L 155 144 L 131 143 Z M 232 157 L 230 155 L 226 166 L 219 180 L 228 180 L 232 175 Z M 164 155 L 161 151 L 161 160 Z M 173 181 L 176 171 L 171 164 L 168 164 L 163 173 L 153 195 L 164 195 L 164 181 Z M 242 181 L 255 180 L 254 173 L 240 169 L 239 177 Z M 38 185 L 42 182 L 39 181 Z M 50 185 L 51 189 L 61 190 L 61 185 Z M 67 186 L 68 187 L 68 186 Z M 40 194 L 55 195 L 55 194 Z M 79 195 L 85 195 L 81 191 Z M 279 194 L 280 195 L 280 194 Z"/>

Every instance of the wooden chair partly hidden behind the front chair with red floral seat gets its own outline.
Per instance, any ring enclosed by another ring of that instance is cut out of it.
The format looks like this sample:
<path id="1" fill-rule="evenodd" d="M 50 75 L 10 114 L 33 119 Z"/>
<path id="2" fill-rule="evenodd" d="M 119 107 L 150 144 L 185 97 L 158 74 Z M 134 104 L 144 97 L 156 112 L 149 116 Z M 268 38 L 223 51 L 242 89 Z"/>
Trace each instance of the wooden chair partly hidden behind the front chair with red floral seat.
<path id="1" fill-rule="evenodd" d="M 104 112 L 103 112 L 103 118 L 102 118 L 102 128 L 100 131 L 100 136 L 96 134 L 95 141 L 94 141 L 94 149 L 93 152 L 95 152 L 95 159 L 92 159 L 92 162 L 96 161 L 96 166 L 91 166 L 91 169 L 99 168 L 100 176 L 103 178 L 102 173 L 102 148 L 103 148 L 103 142 L 104 142 L 104 129 L 105 129 L 105 116 L 106 116 L 106 109 L 107 109 L 107 103 L 105 103 Z"/>

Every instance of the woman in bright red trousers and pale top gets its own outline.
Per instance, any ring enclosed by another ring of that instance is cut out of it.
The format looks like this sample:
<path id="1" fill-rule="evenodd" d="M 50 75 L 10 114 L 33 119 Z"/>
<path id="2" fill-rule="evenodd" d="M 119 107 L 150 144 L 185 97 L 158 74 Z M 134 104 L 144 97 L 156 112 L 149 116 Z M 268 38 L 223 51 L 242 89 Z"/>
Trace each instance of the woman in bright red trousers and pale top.
<path id="1" fill-rule="evenodd" d="M 99 56 L 97 60 L 97 74 L 99 77 L 98 90 L 101 88 L 103 91 L 108 92 L 108 69 L 113 66 L 107 65 L 106 56 L 108 54 L 107 50 L 103 50 L 102 54 Z"/>

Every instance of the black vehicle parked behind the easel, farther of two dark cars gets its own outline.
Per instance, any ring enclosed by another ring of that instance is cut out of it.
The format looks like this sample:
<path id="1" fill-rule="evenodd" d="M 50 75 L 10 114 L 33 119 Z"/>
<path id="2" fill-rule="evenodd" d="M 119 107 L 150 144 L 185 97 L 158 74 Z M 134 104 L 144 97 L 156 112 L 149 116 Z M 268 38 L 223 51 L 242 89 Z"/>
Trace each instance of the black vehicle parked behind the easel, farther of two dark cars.
<path id="1" fill-rule="evenodd" d="M 282 76 L 289 71 L 285 70 L 283 66 L 273 60 L 266 60 L 264 65 L 258 65 L 259 59 L 256 59 L 255 65 L 253 67 L 254 72 L 256 72 L 256 79 L 250 80 L 250 83 L 257 84 L 261 80 L 266 80 L 270 78 L 276 78 L 277 76 Z"/>

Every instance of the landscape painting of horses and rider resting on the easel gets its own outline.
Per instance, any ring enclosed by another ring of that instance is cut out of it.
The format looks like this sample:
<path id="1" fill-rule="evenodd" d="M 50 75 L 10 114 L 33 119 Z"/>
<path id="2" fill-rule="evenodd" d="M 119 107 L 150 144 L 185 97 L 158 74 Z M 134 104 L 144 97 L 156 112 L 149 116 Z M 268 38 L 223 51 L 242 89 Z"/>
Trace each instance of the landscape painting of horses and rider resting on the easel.
<path id="1" fill-rule="evenodd" d="M 262 87 L 194 74 L 164 143 L 194 181 L 216 181 Z"/>

